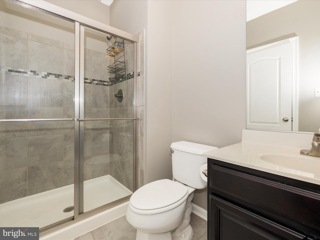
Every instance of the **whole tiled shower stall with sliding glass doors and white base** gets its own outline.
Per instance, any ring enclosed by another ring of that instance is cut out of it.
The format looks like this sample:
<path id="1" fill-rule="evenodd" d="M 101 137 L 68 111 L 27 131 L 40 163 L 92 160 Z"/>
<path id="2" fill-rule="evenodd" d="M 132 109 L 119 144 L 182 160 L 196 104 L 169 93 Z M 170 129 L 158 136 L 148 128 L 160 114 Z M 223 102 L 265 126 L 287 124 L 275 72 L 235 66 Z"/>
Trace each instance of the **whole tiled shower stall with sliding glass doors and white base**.
<path id="1" fill-rule="evenodd" d="M 52 9 L 0 1 L 1 227 L 47 229 L 135 190 L 137 40 Z"/>

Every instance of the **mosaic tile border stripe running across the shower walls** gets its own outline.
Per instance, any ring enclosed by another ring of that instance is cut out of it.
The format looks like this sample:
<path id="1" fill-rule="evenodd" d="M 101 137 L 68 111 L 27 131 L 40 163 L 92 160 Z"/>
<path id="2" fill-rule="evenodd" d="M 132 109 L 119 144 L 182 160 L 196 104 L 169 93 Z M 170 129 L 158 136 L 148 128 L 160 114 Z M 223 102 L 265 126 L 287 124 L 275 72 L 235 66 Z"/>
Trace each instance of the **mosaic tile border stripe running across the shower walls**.
<path id="1" fill-rule="evenodd" d="M 12 74 L 18 74 L 18 75 L 22 74 L 23 76 L 35 76 L 35 77 L 43 78 L 43 79 L 55 79 L 55 80 L 59 79 L 59 80 L 69 80 L 69 81 L 74 82 L 74 76 L 70 76 L 70 75 L 63 75 L 63 74 L 52 73 L 52 72 L 43 72 L 43 71 L 35 71 L 35 70 L 29 70 L 29 69 L 14 68 L 14 67 L 8 67 L 8 66 L 0 66 L 0 72 L 10 72 Z M 139 73 L 138 73 L 138 75 L 139 75 Z M 120 78 L 116 81 L 105 81 L 105 80 L 84 77 L 84 83 L 110 86 L 110 85 L 114 85 L 115 83 L 131 79 L 133 77 L 134 77 L 134 72 L 127 73 L 125 77 Z"/>

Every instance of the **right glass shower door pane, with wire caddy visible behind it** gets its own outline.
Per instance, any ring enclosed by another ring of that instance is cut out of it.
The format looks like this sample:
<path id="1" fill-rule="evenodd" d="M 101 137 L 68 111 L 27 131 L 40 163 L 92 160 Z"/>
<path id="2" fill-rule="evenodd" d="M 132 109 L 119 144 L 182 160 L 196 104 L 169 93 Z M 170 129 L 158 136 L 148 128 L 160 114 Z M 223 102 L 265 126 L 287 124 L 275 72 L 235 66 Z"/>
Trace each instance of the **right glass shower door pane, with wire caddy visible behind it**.
<path id="1" fill-rule="evenodd" d="M 86 212 L 133 191 L 134 43 L 80 26 L 80 49 L 79 179 Z"/>

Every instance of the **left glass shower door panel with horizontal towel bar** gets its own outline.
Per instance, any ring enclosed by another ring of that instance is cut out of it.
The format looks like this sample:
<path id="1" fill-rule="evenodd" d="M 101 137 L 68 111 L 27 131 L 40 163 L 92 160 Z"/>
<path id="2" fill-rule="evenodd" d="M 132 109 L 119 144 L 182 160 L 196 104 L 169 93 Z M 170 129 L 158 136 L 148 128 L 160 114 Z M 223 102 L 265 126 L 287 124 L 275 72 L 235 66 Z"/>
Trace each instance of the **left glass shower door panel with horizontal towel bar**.
<path id="1" fill-rule="evenodd" d="M 73 217 L 74 22 L 0 1 L 0 226 Z"/>

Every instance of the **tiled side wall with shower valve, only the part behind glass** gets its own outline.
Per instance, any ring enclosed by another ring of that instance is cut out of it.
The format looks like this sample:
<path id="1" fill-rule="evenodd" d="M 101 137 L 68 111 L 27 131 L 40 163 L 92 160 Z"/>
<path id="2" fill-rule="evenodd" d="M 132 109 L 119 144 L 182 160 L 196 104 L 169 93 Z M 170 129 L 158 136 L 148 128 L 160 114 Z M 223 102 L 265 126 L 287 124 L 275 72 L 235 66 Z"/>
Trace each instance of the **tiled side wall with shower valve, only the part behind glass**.
<path id="1" fill-rule="evenodd" d="M 124 40 L 125 72 L 133 72 L 134 45 Z M 131 60 L 131 61 L 130 61 Z M 134 78 L 127 79 L 109 88 L 110 117 L 133 117 L 133 89 Z M 114 94 L 119 89 L 123 91 L 123 100 L 119 102 Z M 133 120 L 110 121 L 110 175 L 133 191 Z"/>

